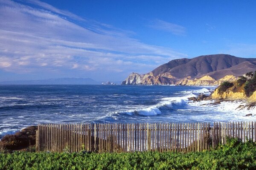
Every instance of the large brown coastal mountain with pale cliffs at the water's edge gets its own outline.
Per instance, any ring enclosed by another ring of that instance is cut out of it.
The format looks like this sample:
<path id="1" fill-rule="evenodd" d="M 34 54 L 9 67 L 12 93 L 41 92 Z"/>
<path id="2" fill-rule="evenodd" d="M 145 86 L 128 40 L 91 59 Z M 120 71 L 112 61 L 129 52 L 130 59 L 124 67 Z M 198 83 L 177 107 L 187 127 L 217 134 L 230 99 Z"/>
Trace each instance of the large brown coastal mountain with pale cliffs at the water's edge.
<path id="1" fill-rule="evenodd" d="M 218 85 L 256 70 L 256 58 L 214 54 L 174 59 L 147 74 L 132 73 L 122 85 Z"/>

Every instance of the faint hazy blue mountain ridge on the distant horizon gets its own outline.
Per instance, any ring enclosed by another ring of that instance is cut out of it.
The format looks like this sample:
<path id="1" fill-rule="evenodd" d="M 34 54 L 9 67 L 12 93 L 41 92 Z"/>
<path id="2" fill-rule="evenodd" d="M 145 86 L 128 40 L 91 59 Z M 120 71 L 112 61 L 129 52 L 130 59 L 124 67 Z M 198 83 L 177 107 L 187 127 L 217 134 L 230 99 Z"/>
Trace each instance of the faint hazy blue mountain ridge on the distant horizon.
<path id="1" fill-rule="evenodd" d="M 60 78 L 60 79 L 41 79 L 41 80 L 17 80 L 0 82 L 4 85 L 98 85 L 90 78 Z"/>

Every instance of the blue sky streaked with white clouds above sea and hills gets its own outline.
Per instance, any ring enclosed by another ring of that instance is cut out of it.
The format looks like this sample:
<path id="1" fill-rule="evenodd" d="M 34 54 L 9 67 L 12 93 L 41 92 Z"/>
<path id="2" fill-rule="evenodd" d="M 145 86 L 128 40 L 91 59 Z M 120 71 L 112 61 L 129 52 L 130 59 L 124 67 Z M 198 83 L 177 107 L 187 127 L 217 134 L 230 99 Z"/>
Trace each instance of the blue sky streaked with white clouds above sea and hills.
<path id="1" fill-rule="evenodd" d="M 256 57 L 255 0 L 0 0 L 0 81 L 122 81 L 179 58 Z"/>

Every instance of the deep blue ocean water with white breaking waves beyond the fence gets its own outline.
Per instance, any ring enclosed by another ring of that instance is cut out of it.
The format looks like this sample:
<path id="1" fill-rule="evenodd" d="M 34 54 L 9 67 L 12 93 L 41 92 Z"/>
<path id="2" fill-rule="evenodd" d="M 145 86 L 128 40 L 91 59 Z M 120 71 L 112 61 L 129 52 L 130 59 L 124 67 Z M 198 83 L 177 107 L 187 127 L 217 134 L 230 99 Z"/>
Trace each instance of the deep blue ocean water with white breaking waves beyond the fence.
<path id="1" fill-rule="evenodd" d="M 140 85 L 0 85 L 0 138 L 38 123 L 215 122 L 256 119 L 242 102 L 189 102 L 215 87 Z"/>

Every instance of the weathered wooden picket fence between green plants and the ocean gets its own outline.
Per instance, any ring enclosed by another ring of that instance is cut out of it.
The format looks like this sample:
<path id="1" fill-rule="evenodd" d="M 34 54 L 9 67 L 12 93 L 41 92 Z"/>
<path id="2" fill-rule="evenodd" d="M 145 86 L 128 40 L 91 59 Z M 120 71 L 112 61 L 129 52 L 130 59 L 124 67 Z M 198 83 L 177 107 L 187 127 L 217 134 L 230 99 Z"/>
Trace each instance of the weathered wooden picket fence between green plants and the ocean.
<path id="1" fill-rule="evenodd" d="M 226 144 L 227 137 L 256 142 L 256 122 L 38 125 L 37 151 L 190 152 Z"/>

